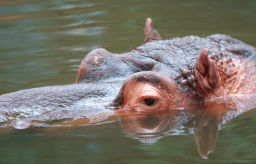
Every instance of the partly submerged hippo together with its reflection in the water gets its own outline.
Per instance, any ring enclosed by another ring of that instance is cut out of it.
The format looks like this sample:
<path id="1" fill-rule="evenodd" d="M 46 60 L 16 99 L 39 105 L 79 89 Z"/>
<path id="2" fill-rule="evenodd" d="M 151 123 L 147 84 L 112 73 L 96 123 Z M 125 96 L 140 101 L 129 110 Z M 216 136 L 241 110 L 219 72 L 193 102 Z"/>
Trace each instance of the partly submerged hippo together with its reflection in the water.
<path id="1" fill-rule="evenodd" d="M 255 48 L 220 34 L 162 40 L 150 18 L 144 42 L 129 53 L 91 51 L 76 84 L 3 94 L 1 126 L 93 124 L 117 115 L 124 133 L 142 142 L 194 133 L 207 158 L 218 126 L 256 107 Z"/>

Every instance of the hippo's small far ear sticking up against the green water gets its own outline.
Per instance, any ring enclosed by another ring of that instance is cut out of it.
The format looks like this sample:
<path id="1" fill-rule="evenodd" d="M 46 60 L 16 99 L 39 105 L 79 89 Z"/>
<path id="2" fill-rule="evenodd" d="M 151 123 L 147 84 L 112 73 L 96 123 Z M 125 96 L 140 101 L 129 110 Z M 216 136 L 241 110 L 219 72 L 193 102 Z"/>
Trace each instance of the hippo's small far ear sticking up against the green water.
<path id="1" fill-rule="evenodd" d="M 145 25 L 145 40 L 144 42 L 153 42 L 156 40 L 162 40 L 159 33 L 153 28 L 152 19 L 147 18 Z"/>

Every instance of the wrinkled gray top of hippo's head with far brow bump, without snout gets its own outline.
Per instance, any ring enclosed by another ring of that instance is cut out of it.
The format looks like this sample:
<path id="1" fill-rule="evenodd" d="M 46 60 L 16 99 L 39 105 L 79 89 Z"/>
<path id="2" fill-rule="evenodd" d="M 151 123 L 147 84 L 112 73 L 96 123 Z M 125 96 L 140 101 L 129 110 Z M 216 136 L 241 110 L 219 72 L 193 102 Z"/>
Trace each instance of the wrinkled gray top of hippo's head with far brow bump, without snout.
<path id="1" fill-rule="evenodd" d="M 84 72 L 81 76 L 78 75 L 78 83 L 105 81 L 116 77 L 127 79 L 136 72 L 155 71 L 174 79 L 189 96 L 196 96 L 198 85 L 194 77 L 194 66 L 200 51 L 204 48 L 209 49 L 211 59 L 220 64 L 223 63 L 223 59 L 231 64 L 232 59 L 242 61 L 256 59 L 253 46 L 230 36 L 220 34 L 207 38 L 187 36 L 148 42 L 124 54 L 96 49 L 82 61 L 80 70 Z M 226 72 L 227 68 L 223 66 L 221 69 Z"/>

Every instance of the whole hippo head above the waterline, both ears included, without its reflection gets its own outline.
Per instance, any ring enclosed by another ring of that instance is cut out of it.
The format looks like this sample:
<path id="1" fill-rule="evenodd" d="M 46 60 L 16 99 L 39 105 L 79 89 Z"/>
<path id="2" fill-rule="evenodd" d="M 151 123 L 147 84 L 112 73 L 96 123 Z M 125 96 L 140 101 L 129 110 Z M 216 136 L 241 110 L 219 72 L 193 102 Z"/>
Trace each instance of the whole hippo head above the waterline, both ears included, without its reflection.
<path id="1" fill-rule="evenodd" d="M 255 107 L 253 46 L 220 34 L 162 40 L 150 18 L 144 42 L 123 54 L 91 51 L 80 64 L 76 84 L 1 95 L 0 122 L 84 102 L 147 112 L 203 109 L 212 101 L 235 96 Z"/>

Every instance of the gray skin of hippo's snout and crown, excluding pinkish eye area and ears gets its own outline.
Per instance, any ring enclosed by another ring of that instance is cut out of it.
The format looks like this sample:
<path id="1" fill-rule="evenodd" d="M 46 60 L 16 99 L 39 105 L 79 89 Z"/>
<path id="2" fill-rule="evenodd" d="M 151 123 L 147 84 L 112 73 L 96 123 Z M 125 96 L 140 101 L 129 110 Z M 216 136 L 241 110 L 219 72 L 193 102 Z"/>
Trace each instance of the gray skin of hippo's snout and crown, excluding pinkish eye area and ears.
<path id="1" fill-rule="evenodd" d="M 109 98 L 105 105 L 110 104 L 131 74 L 149 70 L 174 79 L 179 87 L 193 96 L 197 90 L 193 68 L 203 48 L 209 49 L 209 56 L 217 62 L 221 62 L 223 57 L 256 59 L 253 46 L 220 34 L 207 38 L 187 36 L 148 42 L 124 54 L 95 49 L 82 61 L 77 84 L 40 87 L 1 95 L 0 122 L 39 115 L 54 109 L 79 107 L 82 102 L 97 103 L 102 98 Z"/>

